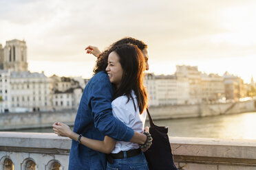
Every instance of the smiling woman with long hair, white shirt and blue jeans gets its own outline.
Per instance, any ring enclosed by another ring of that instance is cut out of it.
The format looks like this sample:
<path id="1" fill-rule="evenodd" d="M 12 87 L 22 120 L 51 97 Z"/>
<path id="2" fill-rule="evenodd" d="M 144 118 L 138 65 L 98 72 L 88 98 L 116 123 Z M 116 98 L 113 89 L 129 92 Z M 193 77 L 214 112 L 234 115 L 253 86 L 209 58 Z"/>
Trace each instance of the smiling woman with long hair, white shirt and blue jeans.
<path id="1" fill-rule="evenodd" d="M 143 86 L 145 59 L 134 45 L 120 45 L 109 49 L 106 71 L 109 80 L 116 85 L 112 112 L 117 119 L 136 132 L 143 132 L 147 113 L 147 92 Z M 54 132 L 59 136 L 78 138 L 70 128 L 59 123 Z M 147 141 L 149 143 L 149 140 Z M 144 154 L 138 144 L 114 141 L 105 136 L 104 141 L 81 137 L 81 143 L 91 149 L 110 153 L 107 169 L 148 169 Z M 124 158 L 125 157 L 125 158 Z M 113 160 L 112 160 L 113 159 Z"/>

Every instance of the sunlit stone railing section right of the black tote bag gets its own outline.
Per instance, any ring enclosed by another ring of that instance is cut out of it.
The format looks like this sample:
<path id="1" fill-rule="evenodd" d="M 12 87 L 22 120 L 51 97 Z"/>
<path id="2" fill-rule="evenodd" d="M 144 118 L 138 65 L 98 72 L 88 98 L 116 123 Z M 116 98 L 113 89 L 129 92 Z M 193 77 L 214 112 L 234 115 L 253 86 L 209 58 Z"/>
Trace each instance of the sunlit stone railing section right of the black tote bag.
<path id="1" fill-rule="evenodd" d="M 170 137 L 174 160 L 185 165 L 256 167 L 256 140 Z"/>

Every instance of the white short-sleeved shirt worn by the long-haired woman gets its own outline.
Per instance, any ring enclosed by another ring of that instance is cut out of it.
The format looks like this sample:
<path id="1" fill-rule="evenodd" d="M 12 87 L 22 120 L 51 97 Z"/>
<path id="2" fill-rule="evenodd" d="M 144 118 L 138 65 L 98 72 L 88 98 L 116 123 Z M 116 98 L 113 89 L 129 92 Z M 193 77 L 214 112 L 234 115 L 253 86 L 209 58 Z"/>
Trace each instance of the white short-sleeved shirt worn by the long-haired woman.
<path id="1" fill-rule="evenodd" d="M 114 101 L 112 101 L 112 112 L 116 119 L 125 123 L 128 127 L 131 127 L 136 132 L 142 133 L 145 126 L 145 120 L 147 117 L 147 112 L 144 111 L 140 114 L 138 108 L 137 97 L 134 93 L 134 90 L 131 91 L 131 96 L 134 98 L 136 104 L 136 110 L 134 110 L 134 102 L 132 99 L 127 103 L 127 96 L 120 96 Z M 137 149 L 139 145 L 136 143 L 125 142 L 125 141 L 116 141 L 116 147 L 111 151 L 112 154 L 116 154 L 120 151 L 128 151 L 130 149 Z"/>

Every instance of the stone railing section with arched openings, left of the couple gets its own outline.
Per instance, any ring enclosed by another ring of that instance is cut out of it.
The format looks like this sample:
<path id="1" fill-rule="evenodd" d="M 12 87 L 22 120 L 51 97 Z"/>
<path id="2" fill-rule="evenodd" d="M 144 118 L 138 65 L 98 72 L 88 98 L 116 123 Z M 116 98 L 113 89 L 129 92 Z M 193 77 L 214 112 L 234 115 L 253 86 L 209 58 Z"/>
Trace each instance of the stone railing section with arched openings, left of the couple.
<path id="1" fill-rule="evenodd" d="M 67 169 L 70 146 L 56 134 L 0 132 L 0 170 Z"/>

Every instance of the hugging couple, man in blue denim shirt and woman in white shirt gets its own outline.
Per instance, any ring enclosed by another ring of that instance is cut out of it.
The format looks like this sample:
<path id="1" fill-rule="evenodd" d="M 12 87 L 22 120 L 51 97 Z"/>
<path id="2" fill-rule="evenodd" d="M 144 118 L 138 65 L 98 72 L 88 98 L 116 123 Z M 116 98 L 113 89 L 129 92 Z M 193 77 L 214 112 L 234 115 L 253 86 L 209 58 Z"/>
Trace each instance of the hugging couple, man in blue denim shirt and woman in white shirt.
<path id="1" fill-rule="evenodd" d="M 61 122 L 52 125 L 55 134 L 72 139 L 69 169 L 148 169 L 143 154 L 152 141 L 144 130 L 147 45 L 122 38 L 103 53 L 92 46 L 86 50 L 98 60 L 83 90 L 74 132 Z"/>

